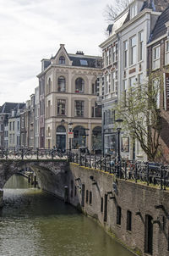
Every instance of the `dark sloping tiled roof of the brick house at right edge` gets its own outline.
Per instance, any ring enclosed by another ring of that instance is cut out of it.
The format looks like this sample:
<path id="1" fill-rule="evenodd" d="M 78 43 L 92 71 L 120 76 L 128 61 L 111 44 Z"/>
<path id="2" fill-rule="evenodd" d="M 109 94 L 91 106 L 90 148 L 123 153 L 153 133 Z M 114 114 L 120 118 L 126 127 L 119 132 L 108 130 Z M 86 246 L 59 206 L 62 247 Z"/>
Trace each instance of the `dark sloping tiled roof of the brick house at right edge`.
<path id="1" fill-rule="evenodd" d="M 155 39 L 166 34 L 166 25 L 165 23 L 169 21 L 169 6 L 166 10 L 159 16 L 156 21 L 155 28 L 152 31 L 149 42 L 154 41 Z"/>

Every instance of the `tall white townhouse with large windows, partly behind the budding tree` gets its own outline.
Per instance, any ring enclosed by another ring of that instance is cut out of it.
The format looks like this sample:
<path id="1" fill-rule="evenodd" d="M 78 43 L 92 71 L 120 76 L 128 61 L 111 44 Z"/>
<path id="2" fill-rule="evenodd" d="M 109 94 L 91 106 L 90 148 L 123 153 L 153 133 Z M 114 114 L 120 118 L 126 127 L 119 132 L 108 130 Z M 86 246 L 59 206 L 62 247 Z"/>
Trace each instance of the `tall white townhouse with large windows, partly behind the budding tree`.
<path id="1" fill-rule="evenodd" d="M 159 5 L 159 2 L 161 4 Z M 163 3 L 164 2 L 164 3 Z M 134 0 L 128 6 L 128 16 L 117 29 L 118 42 L 118 97 L 128 88 L 147 81 L 147 43 L 155 22 L 165 8 L 166 1 Z M 128 132 L 122 134 L 122 156 L 128 159 L 146 160 L 140 144 Z M 123 145 L 124 144 L 124 145 Z"/>

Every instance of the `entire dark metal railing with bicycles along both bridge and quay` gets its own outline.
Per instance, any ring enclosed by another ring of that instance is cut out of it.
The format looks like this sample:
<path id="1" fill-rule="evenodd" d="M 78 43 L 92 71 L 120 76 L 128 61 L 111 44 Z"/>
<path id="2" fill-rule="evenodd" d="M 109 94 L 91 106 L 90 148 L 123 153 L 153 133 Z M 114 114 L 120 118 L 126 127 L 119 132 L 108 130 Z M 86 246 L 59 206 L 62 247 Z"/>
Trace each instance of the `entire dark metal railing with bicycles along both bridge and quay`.
<path id="1" fill-rule="evenodd" d="M 66 159 L 69 162 L 79 164 L 95 170 L 102 170 L 116 175 L 120 179 L 143 182 L 147 186 L 157 185 L 161 189 L 169 187 L 169 164 L 131 161 L 109 157 L 101 157 L 86 153 L 64 153 L 56 148 L 41 149 L 20 148 L 19 150 L 0 149 L 0 159 Z"/>

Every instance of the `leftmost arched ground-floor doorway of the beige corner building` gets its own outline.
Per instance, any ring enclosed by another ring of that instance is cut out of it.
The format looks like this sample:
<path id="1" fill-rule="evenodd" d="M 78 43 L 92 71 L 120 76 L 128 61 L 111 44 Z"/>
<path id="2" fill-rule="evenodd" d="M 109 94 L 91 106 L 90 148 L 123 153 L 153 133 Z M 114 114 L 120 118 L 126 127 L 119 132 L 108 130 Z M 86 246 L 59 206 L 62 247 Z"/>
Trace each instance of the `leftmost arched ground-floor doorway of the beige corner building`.
<path id="1" fill-rule="evenodd" d="M 57 127 L 57 149 L 65 151 L 66 149 L 66 129 L 63 125 Z"/>

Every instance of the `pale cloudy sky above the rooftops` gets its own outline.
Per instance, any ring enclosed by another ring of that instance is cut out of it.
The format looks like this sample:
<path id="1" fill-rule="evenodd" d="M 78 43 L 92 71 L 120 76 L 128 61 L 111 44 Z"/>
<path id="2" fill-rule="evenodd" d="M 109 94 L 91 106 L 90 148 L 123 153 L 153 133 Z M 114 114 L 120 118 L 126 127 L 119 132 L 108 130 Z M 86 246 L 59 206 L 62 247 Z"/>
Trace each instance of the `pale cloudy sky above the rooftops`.
<path id="1" fill-rule="evenodd" d="M 25 102 L 38 86 L 41 59 L 83 51 L 101 56 L 107 0 L 0 0 L 0 106 Z"/>

